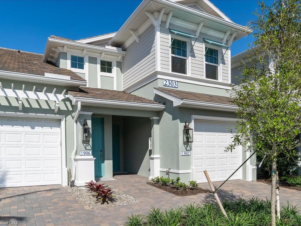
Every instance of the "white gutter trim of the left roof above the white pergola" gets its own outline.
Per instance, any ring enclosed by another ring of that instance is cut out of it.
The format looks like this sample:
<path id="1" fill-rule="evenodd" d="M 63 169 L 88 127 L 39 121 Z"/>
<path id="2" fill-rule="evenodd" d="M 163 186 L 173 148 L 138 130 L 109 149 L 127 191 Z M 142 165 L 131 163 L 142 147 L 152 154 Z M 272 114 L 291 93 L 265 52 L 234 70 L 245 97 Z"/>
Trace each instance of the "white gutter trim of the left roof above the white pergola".
<path id="1" fill-rule="evenodd" d="M 26 81 L 26 82 L 36 82 L 36 83 L 43 83 L 43 84 L 52 84 L 52 85 L 60 85 L 60 86 L 86 86 L 86 81 L 79 81 L 79 80 L 70 80 L 70 79 L 63 79 L 57 77 L 47 77 L 43 75 L 36 75 L 36 74 L 26 74 L 14 71 L 2 71 L 0 70 L 0 78 L 3 79 L 10 79 L 10 80 L 19 80 L 19 81 Z"/>

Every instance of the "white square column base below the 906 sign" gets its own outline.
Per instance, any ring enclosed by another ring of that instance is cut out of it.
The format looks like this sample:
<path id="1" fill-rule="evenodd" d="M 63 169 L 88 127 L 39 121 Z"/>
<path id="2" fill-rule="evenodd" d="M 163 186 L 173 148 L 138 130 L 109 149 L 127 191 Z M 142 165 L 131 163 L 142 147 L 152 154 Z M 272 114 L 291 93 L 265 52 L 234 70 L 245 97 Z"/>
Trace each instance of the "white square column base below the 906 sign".
<path id="1" fill-rule="evenodd" d="M 95 180 L 94 176 L 94 160 L 92 155 L 76 155 L 74 158 L 76 171 L 74 185 L 77 187 L 85 186 L 85 182 Z"/>

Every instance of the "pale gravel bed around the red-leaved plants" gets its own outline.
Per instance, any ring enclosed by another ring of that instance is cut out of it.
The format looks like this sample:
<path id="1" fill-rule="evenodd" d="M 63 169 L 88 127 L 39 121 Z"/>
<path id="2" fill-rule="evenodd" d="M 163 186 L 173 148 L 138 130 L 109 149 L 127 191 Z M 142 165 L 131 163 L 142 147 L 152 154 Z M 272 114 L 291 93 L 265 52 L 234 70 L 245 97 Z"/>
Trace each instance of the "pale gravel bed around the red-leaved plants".
<path id="1" fill-rule="evenodd" d="M 74 196 L 75 199 L 87 210 L 107 208 L 110 206 L 122 206 L 139 202 L 137 199 L 119 191 L 111 185 L 107 185 L 107 187 L 109 187 L 112 191 L 115 191 L 115 193 L 113 193 L 114 198 L 108 203 L 103 203 L 97 202 L 96 196 L 94 195 L 95 193 L 91 193 L 88 188 L 66 186 L 71 195 Z"/>

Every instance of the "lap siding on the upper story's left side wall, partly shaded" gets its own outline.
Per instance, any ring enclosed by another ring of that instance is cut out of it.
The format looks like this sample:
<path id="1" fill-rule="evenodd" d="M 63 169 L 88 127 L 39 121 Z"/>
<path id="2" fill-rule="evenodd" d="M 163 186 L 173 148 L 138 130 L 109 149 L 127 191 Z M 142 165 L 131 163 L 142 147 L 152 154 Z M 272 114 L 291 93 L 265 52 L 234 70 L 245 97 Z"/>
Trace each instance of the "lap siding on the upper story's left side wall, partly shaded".
<path id="1" fill-rule="evenodd" d="M 139 43 L 134 41 L 126 48 L 123 58 L 123 88 L 156 70 L 154 41 L 155 31 L 151 25 L 139 36 Z"/>

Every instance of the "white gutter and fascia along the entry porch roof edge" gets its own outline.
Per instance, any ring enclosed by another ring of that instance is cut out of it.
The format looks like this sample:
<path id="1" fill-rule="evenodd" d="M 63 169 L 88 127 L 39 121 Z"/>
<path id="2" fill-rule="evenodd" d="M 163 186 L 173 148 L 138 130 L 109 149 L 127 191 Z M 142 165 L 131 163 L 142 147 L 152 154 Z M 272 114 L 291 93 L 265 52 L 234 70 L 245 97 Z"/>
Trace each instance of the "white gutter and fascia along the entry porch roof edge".
<path id="1" fill-rule="evenodd" d="M 71 94 L 69 94 L 69 98 L 72 100 L 73 105 L 75 105 L 76 102 L 80 101 L 82 105 L 107 107 L 107 108 L 125 108 L 125 109 L 135 109 L 135 110 L 145 110 L 145 111 L 162 111 L 165 109 L 164 105 L 159 105 L 159 104 L 75 97 L 72 96 Z"/>

